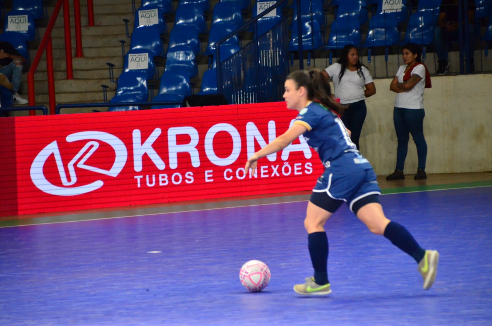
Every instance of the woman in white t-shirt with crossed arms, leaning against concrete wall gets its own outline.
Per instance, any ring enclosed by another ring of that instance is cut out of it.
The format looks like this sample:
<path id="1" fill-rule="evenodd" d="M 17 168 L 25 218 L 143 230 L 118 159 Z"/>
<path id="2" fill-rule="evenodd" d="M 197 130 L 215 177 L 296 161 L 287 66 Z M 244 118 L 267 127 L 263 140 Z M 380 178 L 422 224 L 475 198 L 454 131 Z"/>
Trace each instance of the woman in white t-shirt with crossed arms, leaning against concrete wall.
<path id="1" fill-rule="evenodd" d="M 398 93 L 393 109 L 393 122 L 398 137 L 397 165 L 386 180 L 404 179 L 403 167 L 408 151 L 409 133 L 417 146 L 418 167 L 414 179 L 427 179 L 425 171 L 427 143 L 424 137 L 424 89 L 431 88 L 431 76 L 421 63 L 422 49 L 415 43 L 403 46 L 403 63 L 400 65 L 390 90 Z"/>

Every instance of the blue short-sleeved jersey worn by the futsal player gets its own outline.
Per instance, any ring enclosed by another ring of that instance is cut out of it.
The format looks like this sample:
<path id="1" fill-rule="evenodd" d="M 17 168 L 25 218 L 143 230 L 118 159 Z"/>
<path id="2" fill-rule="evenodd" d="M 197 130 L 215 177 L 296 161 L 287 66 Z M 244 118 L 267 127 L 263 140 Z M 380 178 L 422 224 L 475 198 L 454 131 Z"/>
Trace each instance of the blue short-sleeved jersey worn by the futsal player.
<path id="1" fill-rule="evenodd" d="M 325 168 L 338 162 L 344 169 L 363 167 L 372 169 L 368 160 L 359 154 L 357 147 L 350 140 L 345 126 L 335 112 L 320 103 L 311 102 L 296 117 L 296 124 L 307 128 L 303 134 L 307 144 L 319 155 Z"/>

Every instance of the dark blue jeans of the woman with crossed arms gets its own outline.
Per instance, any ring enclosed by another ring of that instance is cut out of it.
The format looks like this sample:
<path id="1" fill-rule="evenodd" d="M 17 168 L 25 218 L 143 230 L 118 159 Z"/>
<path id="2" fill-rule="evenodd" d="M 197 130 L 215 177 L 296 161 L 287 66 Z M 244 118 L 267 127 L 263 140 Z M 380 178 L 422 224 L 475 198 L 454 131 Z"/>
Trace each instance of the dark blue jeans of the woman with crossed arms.
<path id="1" fill-rule="evenodd" d="M 417 146 L 417 156 L 419 159 L 418 168 L 426 168 L 427 143 L 424 138 L 424 109 L 404 109 L 395 107 L 393 109 L 393 122 L 398 138 L 397 149 L 397 170 L 403 171 L 406 154 L 408 152 L 409 133 L 412 134 L 415 146 Z"/>

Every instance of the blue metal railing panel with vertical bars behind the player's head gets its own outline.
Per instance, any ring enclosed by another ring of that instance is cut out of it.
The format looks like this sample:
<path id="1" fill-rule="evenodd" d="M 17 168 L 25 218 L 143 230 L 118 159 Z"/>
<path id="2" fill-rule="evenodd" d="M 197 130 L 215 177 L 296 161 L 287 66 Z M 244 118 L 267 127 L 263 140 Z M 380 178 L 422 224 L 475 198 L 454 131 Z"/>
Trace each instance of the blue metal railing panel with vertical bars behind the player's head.
<path id="1" fill-rule="evenodd" d="M 296 0 L 300 12 L 300 0 Z M 283 81 L 289 73 L 288 27 L 285 15 L 269 32 L 258 35 L 258 20 L 283 4 L 280 0 L 269 9 L 215 43 L 217 92 L 230 104 L 268 102 L 282 99 Z M 300 29 L 301 20 L 298 20 Z M 253 40 L 231 57 L 220 60 L 220 44 L 230 37 L 253 28 Z M 299 33 L 299 57 L 302 58 L 302 33 Z M 302 60 L 300 61 L 302 65 Z M 303 67 L 300 67 L 303 69 Z"/>

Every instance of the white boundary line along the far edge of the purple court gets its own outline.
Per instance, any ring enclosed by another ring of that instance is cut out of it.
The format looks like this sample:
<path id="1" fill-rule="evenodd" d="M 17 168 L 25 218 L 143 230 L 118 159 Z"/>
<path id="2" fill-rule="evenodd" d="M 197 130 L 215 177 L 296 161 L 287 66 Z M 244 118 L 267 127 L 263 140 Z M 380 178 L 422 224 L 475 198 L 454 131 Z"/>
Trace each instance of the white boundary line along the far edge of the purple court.
<path id="1" fill-rule="evenodd" d="M 436 185 L 438 186 L 438 185 Z M 451 186 L 451 185 L 447 185 Z M 418 187 L 418 186 L 417 186 Z M 458 187 L 458 188 L 439 188 L 439 189 L 423 189 L 423 190 L 415 190 L 415 191 L 404 191 L 405 188 L 401 188 L 401 192 L 392 192 L 392 193 L 382 193 L 381 196 L 387 196 L 387 195 L 399 195 L 399 194 L 412 194 L 412 193 L 424 193 L 424 192 L 433 192 L 433 191 L 442 191 L 442 190 L 460 190 L 460 189 L 472 189 L 472 188 L 487 188 L 487 187 L 492 187 L 492 185 L 483 185 L 483 186 L 468 186 L 468 187 Z M 407 188 L 413 188 L 413 187 L 407 187 Z M 396 189 L 396 188 L 391 188 L 391 190 Z M 303 195 L 292 195 L 292 196 L 303 196 Z M 308 196 L 308 195 L 306 195 Z M 275 198 L 275 197 L 271 197 Z M 281 197 L 278 197 L 281 198 Z M 241 200 L 241 199 L 239 199 Z M 258 199 L 243 199 L 243 200 L 258 200 Z M 152 213 L 152 214 L 139 214 L 139 215 L 125 215 L 125 216 L 113 216 L 113 217 L 104 217 L 104 218 L 87 218 L 87 219 L 79 219 L 79 220 L 73 220 L 73 221 L 57 221 L 57 222 L 40 222 L 40 223 L 35 223 L 35 220 L 38 219 L 50 219 L 54 218 L 53 217 L 34 217 L 32 220 L 34 220 L 32 223 L 26 223 L 26 224 L 19 224 L 19 225 L 8 225 L 8 226 L 0 226 L 0 228 L 14 228 L 14 227 L 29 227 L 29 226 L 37 226 L 37 225 L 49 225 L 49 224 L 61 224 L 61 223 L 76 223 L 76 222 L 87 222 L 87 221 L 101 221 L 101 220 L 114 220 L 114 219 L 124 219 L 124 218 L 129 218 L 129 217 L 147 217 L 147 216 L 155 216 L 155 215 L 167 215 L 167 214 L 181 214 L 181 213 L 192 213 L 192 212 L 205 212 L 205 211 L 210 211 L 210 210 L 218 210 L 218 209 L 229 209 L 229 208 L 242 208 L 242 207 L 255 207 L 255 206 L 266 206 L 266 205 L 278 205 L 278 204 L 289 204 L 289 203 L 296 203 L 296 202 L 305 202 L 308 200 L 291 200 L 291 201 L 283 201 L 283 202 L 272 202 L 272 203 L 264 203 L 264 204 L 251 204 L 251 205 L 238 205 L 238 206 L 227 206 L 227 207 L 216 207 L 216 208 L 202 208 L 202 209 L 190 209 L 190 210 L 183 210 L 183 211 L 175 211 L 175 212 L 161 212 L 161 213 Z M 226 202 L 226 201 L 224 201 Z M 192 204 L 191 204 L 192 205 Z M 196 204 L 199 205 L 199 204 Z M 91 214 L 97 214 L 97 213 L 91 213 Z M 10 220 L 10 221 L 30 221 L 31 219 L 26 219 L 26 220 Z M 3 221 L 5 222 L 10 222 L 10 221 Z M 2 221 L 0 221 L 2 223 Z"/>

